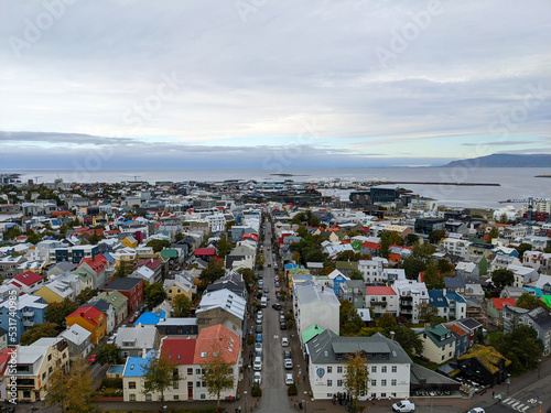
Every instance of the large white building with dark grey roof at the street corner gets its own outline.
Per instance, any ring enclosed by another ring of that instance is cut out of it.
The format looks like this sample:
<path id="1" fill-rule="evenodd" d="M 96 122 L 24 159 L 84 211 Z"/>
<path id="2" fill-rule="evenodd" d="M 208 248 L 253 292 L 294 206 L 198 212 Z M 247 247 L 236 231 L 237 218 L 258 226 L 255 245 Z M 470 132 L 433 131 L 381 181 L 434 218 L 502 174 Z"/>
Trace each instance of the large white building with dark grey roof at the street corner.
<path id="1" fill-rule="evenodd" d="M 369 390 L 360 394 L 361 401 L 410 395 L 412 361 L 398 341 L 379 333 L 371 337 L 341 337 L 325 329 L 305 346 L 306 372 L 314 400 L 331 400 L 346 392 L 345 362 L 356 351 L 367 357 L 369 368 Z"/>

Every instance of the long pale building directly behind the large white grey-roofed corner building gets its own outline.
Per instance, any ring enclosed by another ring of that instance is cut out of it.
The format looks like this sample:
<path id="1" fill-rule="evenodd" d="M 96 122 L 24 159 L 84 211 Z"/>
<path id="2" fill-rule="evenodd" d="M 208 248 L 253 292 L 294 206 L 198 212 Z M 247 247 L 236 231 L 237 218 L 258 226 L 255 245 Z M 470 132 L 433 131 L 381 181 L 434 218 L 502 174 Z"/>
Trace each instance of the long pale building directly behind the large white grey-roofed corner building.
<path id="1" fill-rule="evenodd" d="M 341 303 L 333 289 L 311 283 L 293 285 L 293 309 L 299 337 L 312 324 L 338 332 Z"/>

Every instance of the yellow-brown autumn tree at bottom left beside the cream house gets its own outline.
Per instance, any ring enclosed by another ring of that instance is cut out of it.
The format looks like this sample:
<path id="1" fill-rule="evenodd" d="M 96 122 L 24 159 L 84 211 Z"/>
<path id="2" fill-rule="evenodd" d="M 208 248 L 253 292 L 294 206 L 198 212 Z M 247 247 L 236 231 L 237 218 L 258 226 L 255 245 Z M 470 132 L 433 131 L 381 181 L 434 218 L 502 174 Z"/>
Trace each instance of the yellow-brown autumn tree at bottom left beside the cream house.
<path id="1" fill-rule="evenodd" d="M 82 358 L 75 359 L 69 370 L 60 365 L 50 377 L 46 394 L 46 404 L 50 406 L 60 405 L 63 411 L 69 412 L 95 413 L 99 411 L 95 398 L 94 379 Z"/>

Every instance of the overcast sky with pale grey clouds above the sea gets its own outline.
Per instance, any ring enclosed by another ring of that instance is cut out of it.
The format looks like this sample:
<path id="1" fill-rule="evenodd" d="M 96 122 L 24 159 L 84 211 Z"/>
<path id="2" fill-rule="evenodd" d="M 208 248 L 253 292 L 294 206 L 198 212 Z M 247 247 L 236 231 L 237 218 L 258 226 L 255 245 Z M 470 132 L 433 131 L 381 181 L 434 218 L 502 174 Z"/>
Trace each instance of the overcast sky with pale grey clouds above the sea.
<path id="1" fill-rule="evenodd" d="M 0 169 L 551 153 L 549 0 L 3 0 L 0 32 Z"/>

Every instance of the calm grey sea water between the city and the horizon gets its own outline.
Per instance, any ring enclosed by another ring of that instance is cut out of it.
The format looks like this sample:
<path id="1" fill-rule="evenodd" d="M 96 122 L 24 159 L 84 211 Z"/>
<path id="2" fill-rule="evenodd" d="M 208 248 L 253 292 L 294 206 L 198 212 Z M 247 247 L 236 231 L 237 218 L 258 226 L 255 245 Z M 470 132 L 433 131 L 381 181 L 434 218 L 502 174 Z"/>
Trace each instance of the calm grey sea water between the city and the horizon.
<path id="1" fill-rule="evenodd" d="M 20 173 L 21 181 L 34 180 L 39 183 L 54 182 L 123 182 L 123 181 L 203 181 L 256 180 L 260 182 L 317 182 L 328 180 L 366 181 L 408 181 L 408 182 L 460 182 L 498 183 L 500 186 L 450 186 L 400 184 L 415 194 L 439 199 L 440 205 L 451 207 L 498 208 L 500 200 L 527 197 L 551 198 L 551 178 L 536 175 L 551 175 L 548 169 L 533 167 L 365 167 L 365 169 L 289 169 L 274 175 L 269 170 L 0 170 L 0 173 Z M 348 192 L 337 195 L 347 197 Z M 514 204 L 517 207 L 520 204 Z"/>

